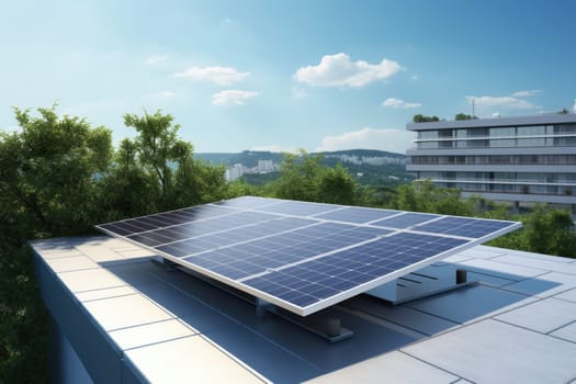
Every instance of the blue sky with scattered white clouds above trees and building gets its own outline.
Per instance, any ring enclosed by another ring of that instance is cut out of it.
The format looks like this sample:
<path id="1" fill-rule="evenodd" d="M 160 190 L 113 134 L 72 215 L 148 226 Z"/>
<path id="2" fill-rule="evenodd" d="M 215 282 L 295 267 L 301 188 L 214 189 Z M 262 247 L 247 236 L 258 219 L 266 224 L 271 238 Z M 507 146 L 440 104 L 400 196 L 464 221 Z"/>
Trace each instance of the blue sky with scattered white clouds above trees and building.
<path id="1" fill-rule="evenodd" d="M 404 153 L 414 114 L 575 108 L 573 0 L 2 1 L 0 128 L 161 110 L 195 151 Z"/>

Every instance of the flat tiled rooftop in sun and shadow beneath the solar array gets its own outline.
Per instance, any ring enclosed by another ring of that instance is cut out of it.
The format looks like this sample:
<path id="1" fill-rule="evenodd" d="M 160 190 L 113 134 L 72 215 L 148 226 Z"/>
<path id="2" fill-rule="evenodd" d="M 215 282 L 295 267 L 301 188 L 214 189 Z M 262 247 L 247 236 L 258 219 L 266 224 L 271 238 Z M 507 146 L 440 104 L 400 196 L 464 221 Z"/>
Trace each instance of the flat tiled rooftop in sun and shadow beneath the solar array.
<path id="1" fill-rule="evenodd" d="M 477 285 L 329 310 L 330 343 L 106 236 L 32 242 L 41 293 L 94 382 L 575 383 L 576 260 L 476 246 L 422 270 Z"/>

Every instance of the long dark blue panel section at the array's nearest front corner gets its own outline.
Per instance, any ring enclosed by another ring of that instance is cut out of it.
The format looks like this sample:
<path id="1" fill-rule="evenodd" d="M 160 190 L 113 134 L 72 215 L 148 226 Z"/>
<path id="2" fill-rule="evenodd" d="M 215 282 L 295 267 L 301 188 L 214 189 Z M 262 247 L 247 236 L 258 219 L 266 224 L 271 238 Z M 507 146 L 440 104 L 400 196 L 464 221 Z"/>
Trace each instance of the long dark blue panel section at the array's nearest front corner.
<path id="1" fill-rule="evenodd" d="M 272 271 L 244 283 L 294 305 L 306 306 L 466 242 L 447 237 L 400 233 Z"/>

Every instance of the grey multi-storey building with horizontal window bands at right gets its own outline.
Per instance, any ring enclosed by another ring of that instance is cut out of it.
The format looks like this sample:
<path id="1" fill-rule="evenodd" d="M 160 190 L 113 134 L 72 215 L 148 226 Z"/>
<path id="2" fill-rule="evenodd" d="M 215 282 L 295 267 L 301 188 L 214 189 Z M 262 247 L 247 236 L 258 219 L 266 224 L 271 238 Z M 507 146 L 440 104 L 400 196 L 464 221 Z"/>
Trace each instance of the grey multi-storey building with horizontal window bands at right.
<path id="1" fill-rule="evenodd" d="M 576 208 L 576 114 L 410 123 L 407 170 L 463 196 Z"/>

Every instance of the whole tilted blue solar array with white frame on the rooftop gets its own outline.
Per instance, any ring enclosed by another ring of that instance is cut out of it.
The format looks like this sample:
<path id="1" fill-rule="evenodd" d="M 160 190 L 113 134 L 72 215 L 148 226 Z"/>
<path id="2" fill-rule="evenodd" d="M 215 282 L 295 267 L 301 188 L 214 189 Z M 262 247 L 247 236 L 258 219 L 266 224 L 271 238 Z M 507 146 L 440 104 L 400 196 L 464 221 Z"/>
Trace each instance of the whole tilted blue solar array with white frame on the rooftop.
<path id="1" fill-rule="evenodd" d="M 97 228 L 307 316 L 520 226 L 245 196 Z"/>

